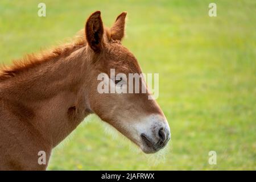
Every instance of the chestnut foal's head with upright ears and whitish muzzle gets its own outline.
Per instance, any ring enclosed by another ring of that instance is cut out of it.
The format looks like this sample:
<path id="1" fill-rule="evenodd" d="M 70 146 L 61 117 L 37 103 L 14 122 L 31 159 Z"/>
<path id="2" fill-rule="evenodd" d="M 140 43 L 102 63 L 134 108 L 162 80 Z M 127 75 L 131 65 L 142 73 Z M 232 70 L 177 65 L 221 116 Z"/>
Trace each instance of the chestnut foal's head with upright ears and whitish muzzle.
<path id="1" fill-rule="evenodd" d="M 89 106 L 103 121 L 141 147 L 142 151 L 154 153 L 170 140 L 170 127 L 156 101 L 148 99 L 150 93 L 141 93 L 142 88 L 146 88 L 143 78 L 139 79 L 139 93 L 98 92 L 101 81 L 97 77 L 101 73 L 108 77 L 110 87 L 114 85 L 115 88 L 131 86 L 129 73 L 141 74 L 137 59 L 121 44 L 125 34 L 125 17 L 126 13 L 119 15 L 110 29 L 104 28 L 100 11 L 90 15 L 86 22 L 86 51 L 92 66 Z M 115 69 L 114 77 L 110 76 L 110 69 Z M 118 73 L 123 74 L 117 77 Z"/>

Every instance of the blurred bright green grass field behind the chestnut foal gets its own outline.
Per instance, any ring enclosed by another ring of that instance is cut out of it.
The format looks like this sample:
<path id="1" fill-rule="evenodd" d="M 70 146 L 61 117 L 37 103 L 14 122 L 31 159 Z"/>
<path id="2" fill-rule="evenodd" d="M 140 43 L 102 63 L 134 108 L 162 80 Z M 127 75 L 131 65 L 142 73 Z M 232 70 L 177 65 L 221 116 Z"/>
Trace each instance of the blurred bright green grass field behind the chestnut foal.
<path id="1" fill-rule="evenodd" d="M 127 11 L 123 44 L 143 72 L 159 73 L 172 131 L 165 151 L 146 155 L 92 115 L 53 151 L 48 169 L 256 169 L 255 1 L 214 1 L 214 18 L 203 0 L 48 0 L 46 18 L 37 16 L 39 2 L 0 2 L 1 63 L 72 37 L 95 10 L 106 26 Z M 211 150 L 217 165 L 208 164 Z"/>

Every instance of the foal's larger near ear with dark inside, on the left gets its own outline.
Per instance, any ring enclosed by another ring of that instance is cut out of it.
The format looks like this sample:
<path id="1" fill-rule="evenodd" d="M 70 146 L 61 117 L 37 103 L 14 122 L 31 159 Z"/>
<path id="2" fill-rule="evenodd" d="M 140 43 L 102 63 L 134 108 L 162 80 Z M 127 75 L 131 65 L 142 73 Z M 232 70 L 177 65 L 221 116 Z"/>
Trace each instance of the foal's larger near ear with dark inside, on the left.
<path id="1" fill-rule="evenodd" d="M 96 11 L 90 15 L 85 24 L 86 40 L 94 52 L 101 51 L 103 34 L 104 28 L 101 20 L 101 11 Z"/>

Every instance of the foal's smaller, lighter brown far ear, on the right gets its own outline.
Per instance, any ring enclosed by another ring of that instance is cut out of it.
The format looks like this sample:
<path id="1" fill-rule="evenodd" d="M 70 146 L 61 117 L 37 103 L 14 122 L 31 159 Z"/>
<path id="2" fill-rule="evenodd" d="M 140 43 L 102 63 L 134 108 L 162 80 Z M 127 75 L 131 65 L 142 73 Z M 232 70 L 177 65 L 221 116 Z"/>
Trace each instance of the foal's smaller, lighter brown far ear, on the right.
<path id="1" fill-rule="evenodd" d="M 125 36 L 125 17 L 126 12 L 121 13 L 117 16 L 117 20 L 113 24 L 112 28 L 110 28 L 111 38 L 113 40 L 122 40 L 123 36 Z"/>

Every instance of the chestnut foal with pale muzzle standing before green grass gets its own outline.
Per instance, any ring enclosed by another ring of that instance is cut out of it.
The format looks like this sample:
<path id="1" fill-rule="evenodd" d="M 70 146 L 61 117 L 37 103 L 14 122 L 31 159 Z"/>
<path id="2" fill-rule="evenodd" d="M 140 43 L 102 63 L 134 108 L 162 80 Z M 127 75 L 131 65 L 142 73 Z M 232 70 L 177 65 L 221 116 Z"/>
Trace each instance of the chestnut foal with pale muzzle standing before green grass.
<path id="1" fill-rule="evenodd" d="M 125 17 L 104 28 L 100 11 L 88 18 L 85 34 L 71 44 L 28 55 L 0 73 L 0 169 L 44 170 L 53 147 L 91 113 L 154 153 L 170 140 L 166 117 L 149 93 L 98 93 L 100 73 L 141 73 L 122 46 Z M 109 78 L 111 81 L 112 78 Z M 142 80 L 141 80 L 142 82 Z M 127 83 L 124 81 L 123 85 Z M 141 84 L 143 85 L 143 84 Z M 46 164 L 38 152 L 46 152 Z"/>

